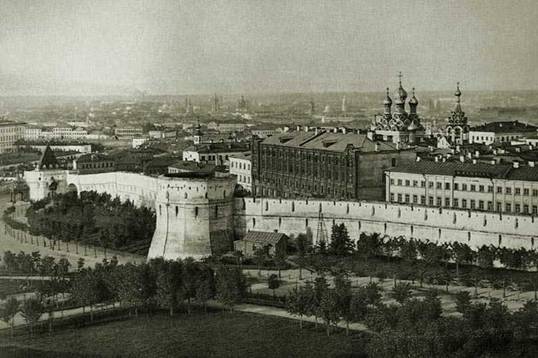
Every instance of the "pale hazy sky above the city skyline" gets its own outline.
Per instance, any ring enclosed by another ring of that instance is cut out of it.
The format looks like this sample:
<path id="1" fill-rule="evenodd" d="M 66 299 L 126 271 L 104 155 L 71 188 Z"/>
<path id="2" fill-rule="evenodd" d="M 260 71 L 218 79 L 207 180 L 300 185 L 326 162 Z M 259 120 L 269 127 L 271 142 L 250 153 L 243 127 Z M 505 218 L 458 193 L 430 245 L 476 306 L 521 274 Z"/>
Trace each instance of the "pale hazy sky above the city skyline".
<path id="1" fill-rule="evenodd" d="M 538 89 L 538 1 L 0 0 L 0 95 Z"/>

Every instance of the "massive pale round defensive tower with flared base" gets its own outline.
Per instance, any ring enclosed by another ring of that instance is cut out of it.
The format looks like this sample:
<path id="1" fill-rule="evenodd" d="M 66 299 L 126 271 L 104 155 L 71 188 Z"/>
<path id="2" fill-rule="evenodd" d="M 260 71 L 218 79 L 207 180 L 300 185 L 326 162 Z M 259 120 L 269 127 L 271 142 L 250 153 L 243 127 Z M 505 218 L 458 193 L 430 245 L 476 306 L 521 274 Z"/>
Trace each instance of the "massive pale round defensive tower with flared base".
<path id="1" fill-rule="evenodd" d="M 235 185 L 235 177 L 213 173 L 159 177 L 148 259 L 200 259 L 231 250 Z"/>

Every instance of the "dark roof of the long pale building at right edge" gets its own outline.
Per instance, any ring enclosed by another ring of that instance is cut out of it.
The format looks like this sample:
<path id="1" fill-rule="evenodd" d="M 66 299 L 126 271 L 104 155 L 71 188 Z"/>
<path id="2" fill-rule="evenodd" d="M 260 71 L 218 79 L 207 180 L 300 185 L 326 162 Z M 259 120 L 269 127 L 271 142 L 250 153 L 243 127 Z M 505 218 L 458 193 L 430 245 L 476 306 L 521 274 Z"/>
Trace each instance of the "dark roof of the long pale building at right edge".
<path id="1" fill-rule="evenodd" d="M 388 169 L 389 172 L 538 181 L 538 167 L 507 164 L 434 162 L 421 160 Z"/>

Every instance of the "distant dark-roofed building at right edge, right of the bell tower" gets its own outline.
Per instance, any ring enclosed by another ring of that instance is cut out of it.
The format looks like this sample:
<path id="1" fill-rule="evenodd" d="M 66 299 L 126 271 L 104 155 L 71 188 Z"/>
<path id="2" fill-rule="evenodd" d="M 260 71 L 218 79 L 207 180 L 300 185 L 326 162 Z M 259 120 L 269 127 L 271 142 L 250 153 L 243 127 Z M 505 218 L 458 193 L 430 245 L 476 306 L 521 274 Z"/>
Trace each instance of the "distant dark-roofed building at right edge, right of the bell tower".
<path id="1" fill-rule="evenodd" d="M 536 134 L 538 127 L 519 121 L 490 122 L 469 130 L 469 143 L 510 143 Z"/>

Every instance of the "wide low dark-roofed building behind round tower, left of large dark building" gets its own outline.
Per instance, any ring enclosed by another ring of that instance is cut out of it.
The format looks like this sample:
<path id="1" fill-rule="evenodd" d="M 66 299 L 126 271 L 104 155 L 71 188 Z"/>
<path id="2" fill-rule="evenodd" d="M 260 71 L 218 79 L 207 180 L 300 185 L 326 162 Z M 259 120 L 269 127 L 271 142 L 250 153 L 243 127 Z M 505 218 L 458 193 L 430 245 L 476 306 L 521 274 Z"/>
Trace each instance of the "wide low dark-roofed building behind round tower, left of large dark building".
<path id="1" fill-rule="evenodd" d="M 250 147 L 245 143 L 210 143 L 193 145 L 183 151 L 183 160 L 213 165 L 229 165 L 230 156 L 247 154 Z"/>

